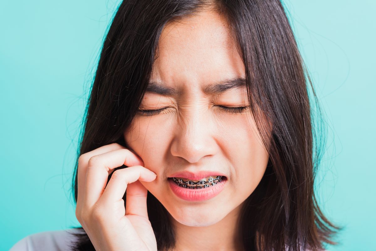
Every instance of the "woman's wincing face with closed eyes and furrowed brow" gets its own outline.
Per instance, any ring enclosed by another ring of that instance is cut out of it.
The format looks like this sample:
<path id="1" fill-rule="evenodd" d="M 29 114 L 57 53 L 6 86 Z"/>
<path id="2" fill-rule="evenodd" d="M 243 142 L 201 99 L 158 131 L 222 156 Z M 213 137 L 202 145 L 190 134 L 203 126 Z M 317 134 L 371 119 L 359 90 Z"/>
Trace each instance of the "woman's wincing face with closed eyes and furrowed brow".
<path id="1" fill-rule="evenodd" d="M 242 83 L 244 64 L 226 21 L 209 11 L 168 24 L 159 41 L 159 53 L 151 79 L 157 87 L 146 92 L 139 109 L 165 109 L 151 115 L 138 113 L 124 138 L 145 167 L 157 174 L 154 181 L 141 183 L 176 221 L 189 226 L 212 225 L 240 208 L 268 163 L 250 108 L 221 109 L 249 106 L 245 85 L 228 88 Z M 226 81 L 227 88 L 216 86 Z M 174 91 L 169 93 L 166 88 Z M 173 192 L 168 178 L 179 171 L 217 171 L 226 178 L 222 184 L 202 189 L 175 185 L 188 200 Z M 216 186 L 221 186 L 217 195 L 202 197 L 212 195 L 205 189 Z M 201 200 L 195 200 L 192 192 Z"/>

